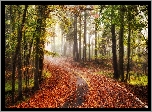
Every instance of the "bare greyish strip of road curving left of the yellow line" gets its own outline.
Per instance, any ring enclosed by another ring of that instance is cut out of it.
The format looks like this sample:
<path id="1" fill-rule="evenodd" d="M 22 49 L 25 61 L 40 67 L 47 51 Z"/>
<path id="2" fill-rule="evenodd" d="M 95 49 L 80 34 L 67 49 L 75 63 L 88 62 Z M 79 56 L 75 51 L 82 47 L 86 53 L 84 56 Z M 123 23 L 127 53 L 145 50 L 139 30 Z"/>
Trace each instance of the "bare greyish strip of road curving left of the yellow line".
<path id="1" fill-rule="evenodd" d="M 74 73 L 72 78 L 76 79 L 76 91 L 67 98 L 67 101 L 60 108 L 78 108 L 78 106 L 82 105 L 82 103 L 85 101 L 85 94 L 88 92 L 88 84 L 86 81 L 78 75 L 77 70 L 72 70 L 68 66 L 61 64 L 58 59 L 54 60 L 52 57 L 45 57 L 45 59 L 51 61 L 53 64 L 60 68 L 64 68 L 64 70 L 68 72 L 72 71 Z"/>

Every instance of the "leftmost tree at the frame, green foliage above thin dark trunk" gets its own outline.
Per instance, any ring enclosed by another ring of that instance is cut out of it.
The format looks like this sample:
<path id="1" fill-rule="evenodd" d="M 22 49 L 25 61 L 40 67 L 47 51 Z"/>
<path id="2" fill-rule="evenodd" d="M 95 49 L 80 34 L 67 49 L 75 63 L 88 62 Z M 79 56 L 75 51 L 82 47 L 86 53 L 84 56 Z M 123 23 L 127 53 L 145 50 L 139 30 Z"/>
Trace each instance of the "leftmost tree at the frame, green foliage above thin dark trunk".
<path id="1" fill-rule="evenodd" d="M 16 33 L 16 20 L 15 16 L 18 15 L 17 13 L 17 6 L 15 5 L 6 5 L 5 6 L 5 71 L 11 70 L 11 80 L 12 80 L 12 104 L 14 104 L 14 92 L 15 92 L 15 69 L 17 61 L 17 42 L 15 39 Z M 14 60 L 15 59 L 15 60 Z M 10 63 L 8 63 L 10 62 Z M 10 66 L 10 67 L 7 67 Z M 11 67 L 12 66 L 12 67 Z"/>

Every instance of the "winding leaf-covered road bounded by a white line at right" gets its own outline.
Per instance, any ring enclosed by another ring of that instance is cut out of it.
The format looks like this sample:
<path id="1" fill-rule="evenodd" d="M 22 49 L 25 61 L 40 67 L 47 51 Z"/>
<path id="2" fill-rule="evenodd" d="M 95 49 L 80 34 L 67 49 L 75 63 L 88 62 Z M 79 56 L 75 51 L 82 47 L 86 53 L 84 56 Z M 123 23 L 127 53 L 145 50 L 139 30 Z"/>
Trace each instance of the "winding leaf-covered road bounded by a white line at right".
<path id="1" fill-rule="evenodd" d="M 77 90 L 61 108 L 148 108 L 116 80 L 98 75 L 93 69 L 82 69 L 70 58 L 58 59 L 46 56 L 45 59 L 68 72 L 72 72 L 73 78 L 77 79 Z"/>

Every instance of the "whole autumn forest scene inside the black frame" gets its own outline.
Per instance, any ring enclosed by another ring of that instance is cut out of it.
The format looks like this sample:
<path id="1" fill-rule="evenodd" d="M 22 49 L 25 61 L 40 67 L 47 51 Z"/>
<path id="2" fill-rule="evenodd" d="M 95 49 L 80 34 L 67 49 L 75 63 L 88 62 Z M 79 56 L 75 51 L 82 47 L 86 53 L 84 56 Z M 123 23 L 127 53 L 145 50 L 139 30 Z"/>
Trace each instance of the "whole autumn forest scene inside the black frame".
<path id="1" fill-rule="evenodd" d="M 5 108 L 148 108 L 148 8 L 5 5 Z"/>

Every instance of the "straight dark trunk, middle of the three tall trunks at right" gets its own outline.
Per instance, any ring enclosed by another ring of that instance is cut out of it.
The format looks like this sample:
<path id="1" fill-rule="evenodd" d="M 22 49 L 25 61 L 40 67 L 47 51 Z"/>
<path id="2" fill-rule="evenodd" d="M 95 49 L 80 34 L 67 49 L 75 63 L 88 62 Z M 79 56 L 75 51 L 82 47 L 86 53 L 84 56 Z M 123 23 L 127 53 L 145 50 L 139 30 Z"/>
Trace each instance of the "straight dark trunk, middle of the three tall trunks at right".
<path id="1" fill-rule="evenodd" d="M 123 44 L 123 34 L 124 34 L 124 6 L 120 6 L 120 35 L 119 35 L 119 74 L 121 76 L 121 81 L 124 81 L 124 44 Z"/>

